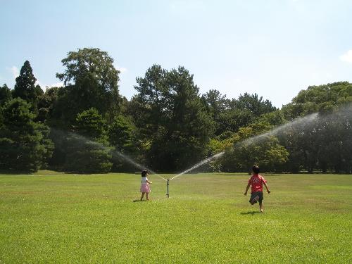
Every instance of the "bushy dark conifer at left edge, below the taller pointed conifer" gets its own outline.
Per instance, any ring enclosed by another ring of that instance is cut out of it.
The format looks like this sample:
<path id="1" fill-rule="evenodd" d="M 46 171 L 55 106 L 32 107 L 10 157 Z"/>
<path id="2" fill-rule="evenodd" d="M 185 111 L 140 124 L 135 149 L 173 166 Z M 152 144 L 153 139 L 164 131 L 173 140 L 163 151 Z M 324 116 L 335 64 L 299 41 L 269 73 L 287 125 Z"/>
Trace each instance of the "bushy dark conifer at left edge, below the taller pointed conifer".
<path id="1" fill-rule="evenodd" d="M 34 122 L 30 104 L 23 99 L 8 101 L 2 108 L 0 127 L 0 168 L 37 171 L 50 158 L 53 143 L 48 139 L 49 127 Z"/>

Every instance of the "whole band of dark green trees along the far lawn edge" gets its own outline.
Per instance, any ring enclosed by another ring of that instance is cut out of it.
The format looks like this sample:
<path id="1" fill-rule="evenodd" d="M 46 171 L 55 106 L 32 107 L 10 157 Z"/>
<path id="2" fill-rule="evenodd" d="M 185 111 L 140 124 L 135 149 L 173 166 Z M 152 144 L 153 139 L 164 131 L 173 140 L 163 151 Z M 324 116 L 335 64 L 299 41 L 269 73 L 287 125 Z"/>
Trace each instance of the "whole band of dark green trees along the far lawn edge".
<path id="1" fill-rule="evenodd" d="M 225 151 L 203 170 L 244 172 L 258 164 L 277 172 L 351 173 L 348 82 L 308 87 L 278 109 L 258 94 L 200 94 L 186 68 L 151 65 L 129 101 L 105 51 L 78 49 L 61 62 L 56 77 L 63 87 L 44 92 L 29 61 L 13 89 L 0 87 L 1 170 L 130 172 L 136 168 L 122 158 L 128 156 L 156 171 L 180 172 Z"/>

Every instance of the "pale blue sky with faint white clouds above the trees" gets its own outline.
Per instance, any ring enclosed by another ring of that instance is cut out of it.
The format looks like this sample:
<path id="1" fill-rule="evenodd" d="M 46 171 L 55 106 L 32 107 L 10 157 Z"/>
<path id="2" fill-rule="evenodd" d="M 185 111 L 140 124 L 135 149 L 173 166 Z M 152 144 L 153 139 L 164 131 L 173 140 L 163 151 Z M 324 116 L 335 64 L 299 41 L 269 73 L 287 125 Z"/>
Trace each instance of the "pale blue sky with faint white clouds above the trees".
<path id="1" fill-rule="evenodd" d="M 301 89 L 352 82 L 352 1 L 0 0 L 0 84 L 30 61 L 58 85 L 69 51 L 97 47 L 121 70 L 120 94 L 154 63 L 182 65 L 201 94 L 257 93 L 281 107 Z"/>

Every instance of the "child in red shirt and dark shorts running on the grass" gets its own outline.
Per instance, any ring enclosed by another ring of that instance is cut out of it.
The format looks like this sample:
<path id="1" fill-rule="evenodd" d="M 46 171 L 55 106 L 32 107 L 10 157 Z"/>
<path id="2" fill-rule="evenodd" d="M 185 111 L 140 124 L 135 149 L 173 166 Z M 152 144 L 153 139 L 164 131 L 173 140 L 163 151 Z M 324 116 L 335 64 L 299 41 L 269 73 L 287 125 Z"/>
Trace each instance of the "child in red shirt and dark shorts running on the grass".
<path id="1" fill-rule="evenodd" d="M 260 213 L 263 213 L 263 184 L 268 191 L 268 194 L 270 194 L 270 190 L 268 188 L 268 185 L 266 184 L 266 180 L 262 175 L 259 175 L 259 167 L 254 165 L 253 168 L 253 175 L 252 177 L 249 178 L 246 191 L 244 192 L 244 195 L 247 195 L 247 191 L 249 187 L 252 185 L 251 189 L 251 199 L 249 199 L 249 202 L 251 205 L 259 201 L 259 207 L 260 207 Z"/>

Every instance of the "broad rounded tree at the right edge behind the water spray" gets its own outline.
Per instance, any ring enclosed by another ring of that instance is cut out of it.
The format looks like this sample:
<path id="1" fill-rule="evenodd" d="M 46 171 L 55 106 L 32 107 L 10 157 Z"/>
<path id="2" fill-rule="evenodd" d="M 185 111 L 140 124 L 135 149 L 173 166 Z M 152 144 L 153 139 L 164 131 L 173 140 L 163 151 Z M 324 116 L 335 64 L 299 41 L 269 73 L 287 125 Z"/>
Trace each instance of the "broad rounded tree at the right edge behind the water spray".
<path id="1" fill-rule="evenodd" d="M 318 113 L 301 125 L 288 125 L 279 135 L 289 151 L 289 170 L 351 171 L 351 102 L 352 84 L 334 82 L 310 86 L 282 107 L 287 120 Z"/>

